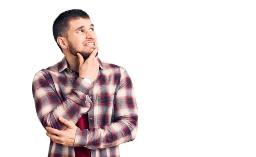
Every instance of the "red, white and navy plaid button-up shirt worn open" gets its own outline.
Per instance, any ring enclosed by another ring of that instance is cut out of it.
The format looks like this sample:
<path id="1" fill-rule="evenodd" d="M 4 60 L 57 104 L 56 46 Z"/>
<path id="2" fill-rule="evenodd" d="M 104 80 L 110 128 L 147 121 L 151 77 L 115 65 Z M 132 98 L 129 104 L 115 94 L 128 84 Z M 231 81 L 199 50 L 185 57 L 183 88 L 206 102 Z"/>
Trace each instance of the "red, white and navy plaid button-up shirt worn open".
<path id="1" fill-rule="evenodd" d="M 93 85 L 69 69 L 65 56 L 34 76 L 32 93 L 44 128 L 65 130 L 59 116 L 76 124 L 88 113 L 90 129 L 77 128 L 73 147 L 50 140 L 50 157 L 75 157 L 74 147 L 89 148 L 92 157 L 119 157 L 118 145 L 136 136 L 138 110 L 131 78 L 123 67 L 97 60 Z"/>

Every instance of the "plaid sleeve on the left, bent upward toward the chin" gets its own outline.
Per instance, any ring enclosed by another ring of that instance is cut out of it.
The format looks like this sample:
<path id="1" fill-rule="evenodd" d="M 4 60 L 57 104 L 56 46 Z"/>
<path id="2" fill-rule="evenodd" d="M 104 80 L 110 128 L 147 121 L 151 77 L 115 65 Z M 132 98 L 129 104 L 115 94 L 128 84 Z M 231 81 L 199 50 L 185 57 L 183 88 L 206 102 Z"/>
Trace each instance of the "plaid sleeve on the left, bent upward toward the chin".
<path id="1" fill-rule="evenodd" d="M 66 125 L 58 120 L 61 116 L 76 124 L 83 113 L 87 113 L 93 106 L 89 98 L 91 84 L 77 78 L 73 84 L 71 93 L 61 100 L 54 90 L 54 84 L 49 84 L 46 74 L 39 71 L 35 74 L 32 83 L 32 93 L 38 119 L 44 128 L 46 126 L 65 130 Z"/>

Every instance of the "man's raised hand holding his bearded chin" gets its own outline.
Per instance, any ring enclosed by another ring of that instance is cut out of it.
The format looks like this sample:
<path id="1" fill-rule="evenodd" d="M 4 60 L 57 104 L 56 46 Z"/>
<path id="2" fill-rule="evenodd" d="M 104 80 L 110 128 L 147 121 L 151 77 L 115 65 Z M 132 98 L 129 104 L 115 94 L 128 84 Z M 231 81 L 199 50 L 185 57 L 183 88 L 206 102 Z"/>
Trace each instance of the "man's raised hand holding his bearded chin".
<path id="1" fill-rule="evenodd" d="M 84 58 L 80 53 L 77 53 L 79 58 L 79 77 L 87 77 L 93 82 L 96 80 L 99 73 L 99 62 L 95 55 L 99 51 L 99 47 L 96 47 L 90 56 L 84 61 Z"/>

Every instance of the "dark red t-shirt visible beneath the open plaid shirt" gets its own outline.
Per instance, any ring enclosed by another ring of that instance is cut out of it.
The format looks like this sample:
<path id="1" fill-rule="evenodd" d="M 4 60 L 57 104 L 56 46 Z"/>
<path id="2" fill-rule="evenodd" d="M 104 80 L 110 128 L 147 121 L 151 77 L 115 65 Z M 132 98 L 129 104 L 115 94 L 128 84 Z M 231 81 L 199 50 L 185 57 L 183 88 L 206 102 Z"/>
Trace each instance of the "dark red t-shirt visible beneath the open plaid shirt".
<path id="1" fill-rule="evenodd" d="M 72 70 L 73 71 L 73 70 Z M 79 76 L 79 73 L 76 71 L 73 71 L 76 73 L 77 76 Z M 89 129 L 89 122 L 88 122 L 88 113 L 83 114 L 81 118 L 76 123 L 76 126 L 78 128 L 82 129 Z M 85 147 L 74 147 L 75 148 L 75 156 L 76 157 L 90 157 L 90 149 Z"/>

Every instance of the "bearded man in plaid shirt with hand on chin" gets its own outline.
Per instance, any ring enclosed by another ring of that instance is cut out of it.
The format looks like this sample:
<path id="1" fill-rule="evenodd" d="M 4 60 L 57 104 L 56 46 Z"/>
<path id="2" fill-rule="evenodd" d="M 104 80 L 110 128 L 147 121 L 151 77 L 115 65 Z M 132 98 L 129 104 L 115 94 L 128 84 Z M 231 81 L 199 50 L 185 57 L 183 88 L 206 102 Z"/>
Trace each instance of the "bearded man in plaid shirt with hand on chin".
<path id="1" fill-rule="evenodd" d="M 38 119 L 51 139 L 51 157 L 118 157 L 134 140 L 138 110 L 127 71 L 102 61 L 86 12 L 61 13 L 53 36 L 64 58 L 35 74 L 32 91 Z"/>

